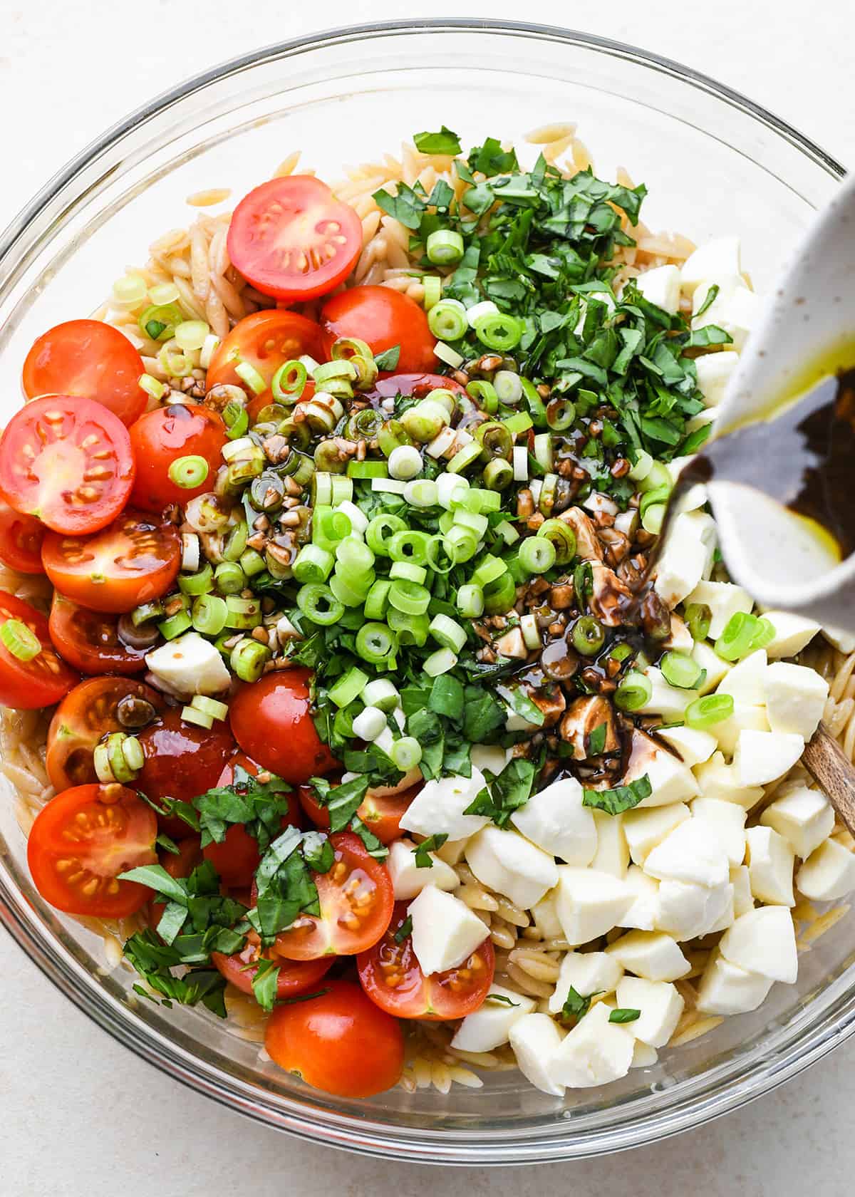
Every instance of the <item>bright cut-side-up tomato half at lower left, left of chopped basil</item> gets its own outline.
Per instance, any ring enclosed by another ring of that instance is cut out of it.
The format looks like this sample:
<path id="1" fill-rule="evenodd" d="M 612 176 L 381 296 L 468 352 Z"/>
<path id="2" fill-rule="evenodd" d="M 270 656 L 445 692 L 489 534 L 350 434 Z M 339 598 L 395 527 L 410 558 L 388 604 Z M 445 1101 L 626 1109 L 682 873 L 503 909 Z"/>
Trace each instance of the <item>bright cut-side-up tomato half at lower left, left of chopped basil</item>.
<path id="1" fill-rule="evenodd" d="M 42 898 L 67 915 L 125 918 L 151 889 L 119 874 L 154 864 L 157 819 L 123 785 L 75 785 L 36 815 L 26 859 Z"/>

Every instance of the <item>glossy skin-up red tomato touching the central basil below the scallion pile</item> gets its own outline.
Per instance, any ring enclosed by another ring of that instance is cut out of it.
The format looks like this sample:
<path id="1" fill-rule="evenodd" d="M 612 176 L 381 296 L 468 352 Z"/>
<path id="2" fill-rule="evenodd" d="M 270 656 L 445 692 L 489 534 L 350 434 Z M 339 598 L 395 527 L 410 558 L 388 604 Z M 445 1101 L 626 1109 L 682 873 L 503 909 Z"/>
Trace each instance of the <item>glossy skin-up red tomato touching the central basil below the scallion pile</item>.
<path id="1" fill-rule="evenodd" d="M 292 785 L 328 773 L 335 760 L 311 718 L 308 669 L 281 669 L 242 686 L 229 707 L 243 751 Z"/>

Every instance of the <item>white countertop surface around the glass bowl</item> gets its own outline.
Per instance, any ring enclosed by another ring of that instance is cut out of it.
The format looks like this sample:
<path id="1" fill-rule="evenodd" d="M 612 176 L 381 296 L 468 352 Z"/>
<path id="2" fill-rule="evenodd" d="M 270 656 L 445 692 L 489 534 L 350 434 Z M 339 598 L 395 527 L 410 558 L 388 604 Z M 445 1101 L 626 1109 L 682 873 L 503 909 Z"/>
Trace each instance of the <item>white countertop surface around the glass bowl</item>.
<path id="1" fill-rule="evenodd" d="M 297 10 L 295 12 L 295 10 Z M 637 43 L 721 79 L 855 162 L 849 0 L 0 0 L 4 171 L 0 226 L 108 124 L 181 78 L 255 45 L 383 17 L 455 16 L 570 24 Z M 287 16 L 286 16 L 287 14 Z M 132 30 L 138 31 L 132 34 Z M 144 1064 L 67 1002 L 0 932 L 0 1192 L 122 1197 L 234 1191 L 254 1197 L 821 1197 L 851 1190 L 855 1045 L 699 1131 L 649 1149 L 532 1169 L 376 1162 L 301 1143 L 223 1110 Z"/>

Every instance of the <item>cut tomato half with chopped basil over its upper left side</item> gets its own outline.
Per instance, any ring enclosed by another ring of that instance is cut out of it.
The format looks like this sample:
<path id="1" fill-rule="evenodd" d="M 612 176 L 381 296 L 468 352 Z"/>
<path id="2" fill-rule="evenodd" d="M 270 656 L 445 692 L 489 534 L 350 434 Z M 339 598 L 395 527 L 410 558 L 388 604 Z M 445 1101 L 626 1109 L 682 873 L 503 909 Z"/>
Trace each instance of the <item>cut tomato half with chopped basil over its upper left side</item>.
<path id="1" fill-rule="evenodd" d="M 369 856 L 352 832 L 329 837 L 335 861 L 328 873 L 315 873 L 320 918 L 301 915 L 280 931 L 275 952 L 289 960 L 317 960 L 365 952 L 383 935 L 394 898 L 389 870 Z"/>

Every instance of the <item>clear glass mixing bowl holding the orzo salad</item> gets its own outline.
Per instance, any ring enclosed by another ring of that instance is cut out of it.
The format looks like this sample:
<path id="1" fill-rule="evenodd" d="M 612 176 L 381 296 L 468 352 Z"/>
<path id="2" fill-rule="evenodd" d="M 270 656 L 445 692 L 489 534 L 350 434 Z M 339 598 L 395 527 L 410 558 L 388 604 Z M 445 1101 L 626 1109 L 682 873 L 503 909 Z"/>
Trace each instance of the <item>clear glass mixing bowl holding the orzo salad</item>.
<path id="1" fill-rule="evenodd" d="M 160 231 L 192 218 L 184 198 L 236 195 L 293 148 L 335 178 L 441 121 L 468 142 L 578 122 L 598 170 L 623 164 L 649 188 L 644 218 L 695 239 L 741 233 L 758 290 L 843 171 L 728 89 L 673 62 L 558 29 L 489 22 L 364 26 L 287 42 L 190 79 L 115 126 L 61 171 L 0 242 L 0 396 L 11 411 L 26 350 L 95 309 Z M 566 1101 L 519 1074 L 480 1090 L 327 1098 L 257 1058 L 193 1010 L 139 1003 L 101 941 L 41 900 L 11 802 L 0 802 L 0 903 L 11 934 L 92 1019 L 171 1076 L 260 1122 L 374 1155 L 450 1163 L 559 1160 L 650 1143 L 771 1089 L 855 1029 L 853 920 L 801 956 L 751 1015 L 665 1052 L 662 1062 Z M 370 1051 L 370 1044 L 366 1044 Z"/>

